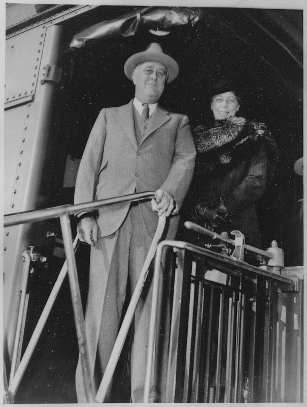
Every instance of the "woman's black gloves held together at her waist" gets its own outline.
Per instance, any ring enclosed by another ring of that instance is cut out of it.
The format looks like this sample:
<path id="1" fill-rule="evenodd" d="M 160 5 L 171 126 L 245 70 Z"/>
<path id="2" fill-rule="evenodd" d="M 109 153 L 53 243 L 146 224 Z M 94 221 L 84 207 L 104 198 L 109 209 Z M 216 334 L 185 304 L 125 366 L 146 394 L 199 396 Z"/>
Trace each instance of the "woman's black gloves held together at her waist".
<path id="1" fill-rule="evenodd" d="M 199 202 L 192 214 L 195 221 L 208 222 L 213 227 L 217 227 L 225 222 L 227 217 L 227 209 L 223 202 L 219 202 L 218 206 L 208 205 L 207 202 Z"/>

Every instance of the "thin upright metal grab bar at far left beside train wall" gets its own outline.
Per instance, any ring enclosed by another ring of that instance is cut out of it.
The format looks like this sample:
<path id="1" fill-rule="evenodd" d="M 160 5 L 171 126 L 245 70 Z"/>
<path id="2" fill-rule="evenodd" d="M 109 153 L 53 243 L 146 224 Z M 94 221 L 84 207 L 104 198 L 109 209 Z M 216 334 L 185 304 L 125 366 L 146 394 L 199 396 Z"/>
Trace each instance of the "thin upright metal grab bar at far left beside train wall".
<path id="1" fill-rule="evenodd" d="M 22 260 L 23 260 L 23 265 L 22 265 L 22 273 L 21 273 L 21 297 L 20 297 L 20 305 L 19 305 L 19 314 L 18 314 L 18 319 L 17 319 L 17 327 L 16 327 L 16 333 L 15 333 L 15 342 L 14 342 L 14 350 L 13 350 L 13 357 L 12 357 L 12 365 L 11 365 L 11 371 L 10 371 L 10 381 L 9 381 L 9 386 L 12 383 L 14 374 L 16 373 L 16 369 L 19 365 L 20 362 L 20 352 L 21 352 L 21 346 L 22 346 L 22 340 L 23 340 L 23 334 L 22 334 L 22 327 L 23 327 L 23 315 L 24 311 L 26 310 L 26 290 L 27 290 L 27 284 L 28 284 L 28 276 L 30 272 L 30 263 L 31 263 L 31 257 L 27 251 L 24 251 L 22 253 Z"/>

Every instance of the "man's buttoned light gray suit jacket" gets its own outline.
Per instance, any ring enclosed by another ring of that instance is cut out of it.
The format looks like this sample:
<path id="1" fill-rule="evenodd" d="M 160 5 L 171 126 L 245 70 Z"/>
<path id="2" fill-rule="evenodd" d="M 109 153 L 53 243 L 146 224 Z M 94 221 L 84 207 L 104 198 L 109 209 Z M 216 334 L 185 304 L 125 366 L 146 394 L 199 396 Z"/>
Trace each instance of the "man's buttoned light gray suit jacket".
<path id="1" fill-rule="evenodd" d="M 75 203 L 161 188 L 172 194 L 180 207 L 192 179 L 195 155 L 186 115 L 158 105 L 138 146 L 132 100 L 120 107 L 105 108 L 96 119 L 82 156 Z M 140 208 L 153 235 L 157 214 L 150 202 L 141 203 Z M 129 203 L 99 209 L 98 237 L 113 234 L 128 209 Z"/>

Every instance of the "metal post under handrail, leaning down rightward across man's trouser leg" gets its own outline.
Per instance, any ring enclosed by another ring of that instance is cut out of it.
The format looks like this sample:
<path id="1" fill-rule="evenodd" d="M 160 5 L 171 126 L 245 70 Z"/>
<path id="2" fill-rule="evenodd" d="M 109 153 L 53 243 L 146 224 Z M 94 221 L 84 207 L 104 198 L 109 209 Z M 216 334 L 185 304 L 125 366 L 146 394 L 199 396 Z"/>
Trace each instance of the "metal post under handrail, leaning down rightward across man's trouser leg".
<path id="1" fill-rule="evenodd" d="M 84 377 L 85 395 L 88 402 L 94 402 L 94 391 L 92 383 L 92 371 L 89 361 L 88 346 L 85 333 L 85 323 L 83 316 L 83 308 L 81 302 L 81 294 L 77 275 L 76 258 L 73 247 L 73 238 L 71 230 L 71 222 L 69 215 L 64 214 L 60 217 L 64 249 L 68 265 L 68 275 L 71 288 L 72 304 L 74 310 L 74 318 L 76 332 L 78 338 L 79 352 L 81 354 L 82 372 Z"/>

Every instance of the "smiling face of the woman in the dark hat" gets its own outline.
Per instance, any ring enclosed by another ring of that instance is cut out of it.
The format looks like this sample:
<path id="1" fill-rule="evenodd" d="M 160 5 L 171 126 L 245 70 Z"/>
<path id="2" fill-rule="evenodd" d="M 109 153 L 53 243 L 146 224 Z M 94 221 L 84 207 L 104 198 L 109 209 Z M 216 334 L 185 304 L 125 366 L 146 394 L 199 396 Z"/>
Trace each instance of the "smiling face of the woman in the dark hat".
<path id="1" fill-rule="evenodd" d="M 240 104 L 233 92 L 225 92 L 214 95 L 211 102 L 215 120 L 227 119 L 235 116 L 240 108 Z"/>

